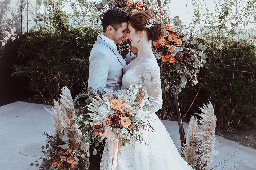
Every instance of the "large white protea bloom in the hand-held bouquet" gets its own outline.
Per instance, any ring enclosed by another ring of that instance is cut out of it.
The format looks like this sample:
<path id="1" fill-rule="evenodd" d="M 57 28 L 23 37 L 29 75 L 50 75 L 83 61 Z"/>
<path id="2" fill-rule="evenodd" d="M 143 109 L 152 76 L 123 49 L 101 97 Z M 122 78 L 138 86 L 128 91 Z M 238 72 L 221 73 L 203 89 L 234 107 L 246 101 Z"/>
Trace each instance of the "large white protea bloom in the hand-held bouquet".
<path id="1" fill-rule="evenodd" d="M 93 113 L 88 113 L 93 121 L 104 120 L 107 116 L 109 116 L 111 107 L 109 103 L 109 99 L 103 97 L 102 99 L 98 96 L 98 100 L 93 99 L 92 103 L 88 105 L 88 110 Z"/>

